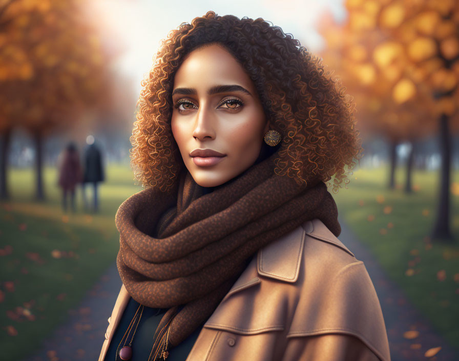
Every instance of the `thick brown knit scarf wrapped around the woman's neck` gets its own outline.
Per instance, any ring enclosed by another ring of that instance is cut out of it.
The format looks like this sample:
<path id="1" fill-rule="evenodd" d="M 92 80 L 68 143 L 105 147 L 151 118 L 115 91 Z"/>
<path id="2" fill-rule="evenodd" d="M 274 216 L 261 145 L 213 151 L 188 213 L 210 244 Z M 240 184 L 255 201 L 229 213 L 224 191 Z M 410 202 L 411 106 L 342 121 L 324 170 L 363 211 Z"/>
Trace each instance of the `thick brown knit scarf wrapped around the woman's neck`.
<path id="1" fill-rule="evenodd" d="M 119 207 L 122 282 L 140 304 L 169 308 L 155 339 L 169 327 L 177 346 L 211 316 L 249 258 L 306 220 L 319 218 L 340 234 L 326 185 L 276 175 L 276 156 L 208 194 L 185 171 L 174 193 L 148 188 Z"/>

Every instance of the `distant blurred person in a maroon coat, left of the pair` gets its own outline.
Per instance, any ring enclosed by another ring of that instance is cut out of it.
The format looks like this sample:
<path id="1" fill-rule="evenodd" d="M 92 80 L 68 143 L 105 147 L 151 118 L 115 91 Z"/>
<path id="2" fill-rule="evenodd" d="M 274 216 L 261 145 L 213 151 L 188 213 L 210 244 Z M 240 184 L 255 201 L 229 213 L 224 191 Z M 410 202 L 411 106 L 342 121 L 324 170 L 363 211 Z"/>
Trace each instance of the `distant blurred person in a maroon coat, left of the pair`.
<path id="1" fill-rule="evenodd" d="M 70 196 L 70 206 L 75 212 L 75 186 L 81 183 L 82 171 L 78 151 L 74 143 L 70 143 L 59 159 L 59 180 L 62 188 L 62 210 L 67 211 L 67 198 Z"/>

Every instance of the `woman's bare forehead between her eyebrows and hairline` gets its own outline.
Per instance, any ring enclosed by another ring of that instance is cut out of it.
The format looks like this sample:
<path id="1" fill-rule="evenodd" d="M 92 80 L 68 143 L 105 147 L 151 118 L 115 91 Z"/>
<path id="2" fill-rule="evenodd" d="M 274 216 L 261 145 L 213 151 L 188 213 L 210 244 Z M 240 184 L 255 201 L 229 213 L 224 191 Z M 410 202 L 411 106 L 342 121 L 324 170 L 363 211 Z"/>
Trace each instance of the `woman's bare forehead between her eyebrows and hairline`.
<path id="1" fill-rule="evenodd" d="M 251 78 L 236 58 L 218 44 L 212 44 L 188 54 L 174 78 L 174 88 L 203 88 L 237 84 L 254 90 Z"/>

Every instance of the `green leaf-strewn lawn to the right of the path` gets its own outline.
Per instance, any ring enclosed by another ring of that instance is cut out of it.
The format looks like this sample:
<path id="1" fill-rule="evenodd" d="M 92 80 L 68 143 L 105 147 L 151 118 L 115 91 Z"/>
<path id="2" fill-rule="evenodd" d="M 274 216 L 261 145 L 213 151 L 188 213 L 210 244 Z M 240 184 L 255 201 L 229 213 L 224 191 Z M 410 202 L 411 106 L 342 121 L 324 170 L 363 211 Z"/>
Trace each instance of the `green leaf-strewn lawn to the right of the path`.
<path id="1" fill-rule="evenodd" d="M 451 244 L 429 234 L 435 220 L 438 173 L 416 171 L 414 193 L 405 194 L 404 169 L 394 191 L 388 169 L 360 169 L 334 197 L 340 215 L 451 345 L 459 339 L 459 172 L 452 175 Z"/>

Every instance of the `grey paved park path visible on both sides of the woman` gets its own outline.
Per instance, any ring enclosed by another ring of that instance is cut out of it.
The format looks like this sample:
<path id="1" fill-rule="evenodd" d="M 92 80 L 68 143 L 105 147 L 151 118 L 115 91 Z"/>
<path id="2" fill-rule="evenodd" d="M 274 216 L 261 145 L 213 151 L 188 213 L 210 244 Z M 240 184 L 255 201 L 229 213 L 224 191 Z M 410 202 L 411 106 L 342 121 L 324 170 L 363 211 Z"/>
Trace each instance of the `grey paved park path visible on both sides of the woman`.
<path id="1" fill-rule="evenodd" d="M 354 255 L 362 260 L 374 284 L 386 323 L 392 361 L 430 360 L 457 361 L 459 353 L 452 349 L 408 302 L 405 294 L 391 282 L 372 254 L 341 219 L 339 236 Z M 81 305 L 69 311 L 65 324 L 58 327 L 41 349 L 24 361 L 97 360 L 116 297 L 121 287 L 116 266 L 110 267 L 88 291 Z M 405 339 L 405 331 L 419 331 L 415 339 Z M 414 345 L 414 346 L 413 346 Z M 434 347 L 442 349 L 427 358 L 424 353 Z"/>

